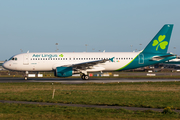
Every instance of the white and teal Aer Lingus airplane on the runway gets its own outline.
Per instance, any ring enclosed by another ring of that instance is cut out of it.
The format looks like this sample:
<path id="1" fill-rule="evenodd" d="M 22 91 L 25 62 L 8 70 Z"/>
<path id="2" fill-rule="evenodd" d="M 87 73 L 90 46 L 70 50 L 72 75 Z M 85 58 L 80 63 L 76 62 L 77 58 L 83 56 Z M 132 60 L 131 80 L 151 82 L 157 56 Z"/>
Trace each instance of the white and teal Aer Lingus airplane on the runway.
<path id="1" fill-rule="evenodd" d="M 12 56 L 3 67 L 24 71 L 25 80 L 29 71 L 54 71 L 56 77 L 80 74 L 83 80 L 88 80 L 89 72 L 129 70 L 176 58 L 167 53 L 172 29 L 173 24 L 165 24 L 145 49 L 138 52 L 27 52 Z"/>

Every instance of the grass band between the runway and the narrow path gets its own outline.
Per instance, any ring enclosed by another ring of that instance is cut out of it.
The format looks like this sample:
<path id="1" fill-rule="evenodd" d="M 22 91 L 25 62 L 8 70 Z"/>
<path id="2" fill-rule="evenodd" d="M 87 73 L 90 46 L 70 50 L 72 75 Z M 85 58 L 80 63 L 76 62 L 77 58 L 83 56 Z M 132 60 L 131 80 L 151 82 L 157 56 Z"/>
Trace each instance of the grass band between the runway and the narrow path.
<path id="1" fill-rule="evenodd" d="M 0 83 L 0 100 L 180 109 L 180 82 Z"/>

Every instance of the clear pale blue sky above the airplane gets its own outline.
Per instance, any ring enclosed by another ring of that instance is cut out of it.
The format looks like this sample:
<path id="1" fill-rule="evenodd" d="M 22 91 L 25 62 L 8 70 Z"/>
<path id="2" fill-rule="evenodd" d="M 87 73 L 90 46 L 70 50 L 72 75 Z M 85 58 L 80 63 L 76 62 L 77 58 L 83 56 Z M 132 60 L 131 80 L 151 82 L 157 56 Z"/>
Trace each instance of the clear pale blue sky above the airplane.
<path id="1" fill-rule="evenodd" d="M 179 11 L 180 0 L 0 0 L 0 61 L 27 51 L 139 51 L 164 24 L 174 24 L 168 52 L 180 55 Z"/>

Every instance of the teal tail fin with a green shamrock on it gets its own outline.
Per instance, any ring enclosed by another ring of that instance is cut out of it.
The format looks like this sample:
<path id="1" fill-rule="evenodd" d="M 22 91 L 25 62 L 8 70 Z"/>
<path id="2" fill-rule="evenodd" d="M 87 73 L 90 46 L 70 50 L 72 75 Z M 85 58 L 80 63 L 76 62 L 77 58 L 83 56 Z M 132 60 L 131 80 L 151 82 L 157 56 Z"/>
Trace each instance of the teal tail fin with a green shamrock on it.
<path id="1" fill-rule="evenodd" d="M 165 24 L 155 35 L 143 52 L 147 53 L 167 53 L 173 24 Z"/>

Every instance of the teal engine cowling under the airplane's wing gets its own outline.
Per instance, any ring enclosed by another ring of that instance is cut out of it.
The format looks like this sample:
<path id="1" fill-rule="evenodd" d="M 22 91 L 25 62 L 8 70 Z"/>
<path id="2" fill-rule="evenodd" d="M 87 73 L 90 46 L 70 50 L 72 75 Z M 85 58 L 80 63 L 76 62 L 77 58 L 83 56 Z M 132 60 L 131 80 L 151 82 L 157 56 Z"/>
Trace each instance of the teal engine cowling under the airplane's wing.
<path id="1" fill-rule="evenodd" d="M 57 77 L 70 77 L 73 74 L 72 67 L 57 67 L 54 76 Z"/>

